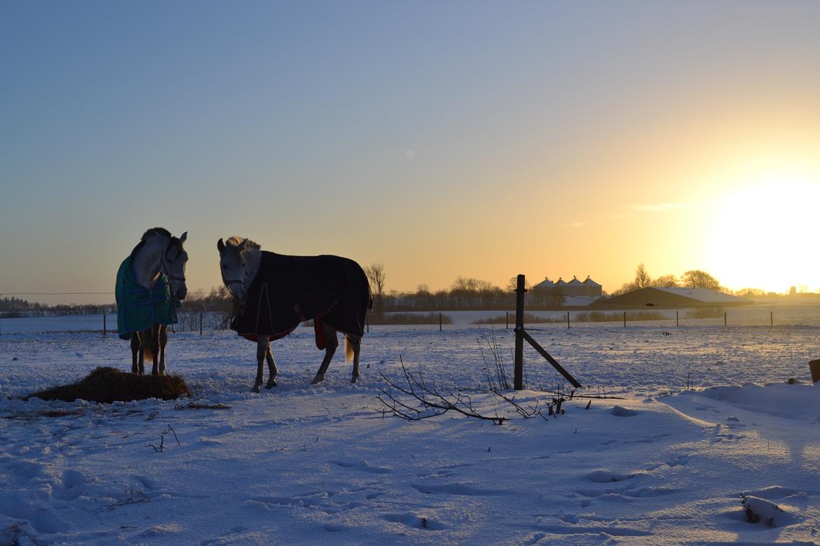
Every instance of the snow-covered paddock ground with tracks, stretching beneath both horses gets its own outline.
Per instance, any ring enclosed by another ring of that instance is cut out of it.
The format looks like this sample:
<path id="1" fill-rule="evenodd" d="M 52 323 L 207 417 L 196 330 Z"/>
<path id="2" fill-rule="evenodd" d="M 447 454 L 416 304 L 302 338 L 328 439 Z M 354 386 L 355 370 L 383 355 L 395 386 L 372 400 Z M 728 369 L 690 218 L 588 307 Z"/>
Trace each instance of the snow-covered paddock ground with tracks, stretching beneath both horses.
<path id="1" fill-rule="evenodd" d="M 230 406 L 189 409 L 23 401 L 98 366 L 130 369 L 130 352 L 116 336 L 12 333 L 12 320 L 0 335 L 0 544 L 820 540 L 818 327 L 538 325 L 585 395 L 622 397 L 573 399 L 545 421 L 485 392 L 493 336 L 512 381 L 503 327 L 371 327 L 359 383 L 337 354 L 320 386 L 309 381 L 321 352 L 298 328 L 274 343 L 279 386 L 260 395 L 248 392 L 255 345 L 177 333 L 169 372 L 196 401 Z M 399 355 L 508 422 L 383 418 L 380 373 L 400 381 Z M 561 377 L 533 350 L 525 360 L 531 390 L 517 400 L 543 404 Z M 750 523 L 741 493 L 783 512 Z"/>

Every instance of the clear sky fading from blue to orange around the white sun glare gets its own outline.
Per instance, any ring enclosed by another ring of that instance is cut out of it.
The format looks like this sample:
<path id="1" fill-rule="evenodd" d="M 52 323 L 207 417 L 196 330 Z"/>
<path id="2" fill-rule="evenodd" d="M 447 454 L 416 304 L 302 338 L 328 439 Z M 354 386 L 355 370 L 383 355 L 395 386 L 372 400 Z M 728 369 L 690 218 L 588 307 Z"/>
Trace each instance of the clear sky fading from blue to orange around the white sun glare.
<path id="1" fill-rule="evenodd" d="M 218 284 L 230 235 L 383 263 L 396 290 L 614 290 L 640 262 L 813 289 L 804 261 L 745 282 L 701 216 L 761 173 L 820 183 L 818 21 L 816 2 L 3 2 L 0 292 L 105 291 L 154 225 L 189 232 L 190 290 Z"/>

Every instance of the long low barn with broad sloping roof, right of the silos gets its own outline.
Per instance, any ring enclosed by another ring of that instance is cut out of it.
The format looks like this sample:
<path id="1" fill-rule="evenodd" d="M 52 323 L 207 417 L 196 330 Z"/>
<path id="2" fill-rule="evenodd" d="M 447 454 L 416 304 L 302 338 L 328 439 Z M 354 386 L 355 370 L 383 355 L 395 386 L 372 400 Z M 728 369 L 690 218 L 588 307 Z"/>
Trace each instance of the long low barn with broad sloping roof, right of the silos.
<path id="1" fill-rule="evenodd" d="M 613 309 L 622 307 L 623 309 L 637 309 L 645 307 L 731 307 L 736 305 L 749 305 L 752 300 L 745 300 L 737 296 L 730 296 L 723 292 L 708 290 L 706 288 L 687 287 L 646 287 L 614 296 L 606 300 L 606 307 Z"/>

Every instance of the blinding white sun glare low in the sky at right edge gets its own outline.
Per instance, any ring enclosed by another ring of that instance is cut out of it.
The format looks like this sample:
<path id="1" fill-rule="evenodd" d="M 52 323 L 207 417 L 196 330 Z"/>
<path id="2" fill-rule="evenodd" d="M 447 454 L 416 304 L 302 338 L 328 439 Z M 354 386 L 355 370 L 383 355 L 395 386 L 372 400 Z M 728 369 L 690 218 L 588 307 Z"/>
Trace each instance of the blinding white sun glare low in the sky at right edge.
<path id="1" fill-rule="evenodd" d="M 723 286 L 817 291 L 820 173 L 769 172 L 745 178 L 708 207 L 710 273 Z"/>

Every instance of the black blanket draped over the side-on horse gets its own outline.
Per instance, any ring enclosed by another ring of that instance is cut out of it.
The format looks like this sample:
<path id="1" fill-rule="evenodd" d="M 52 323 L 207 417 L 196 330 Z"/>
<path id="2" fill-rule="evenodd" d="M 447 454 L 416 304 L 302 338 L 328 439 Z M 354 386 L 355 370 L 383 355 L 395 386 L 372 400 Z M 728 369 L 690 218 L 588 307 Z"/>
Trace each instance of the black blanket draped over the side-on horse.
<path id="1" fill-rule="evenodd" d="M 314 319 L 320 346 L 320 320 L 339 332 L 362 336 L 370 301 L 367 275 L 352 259 L 262 250 L 248 300 L 231 320 L 230 329 L 252 341 L 258 336 L 275 340 Z"/>

